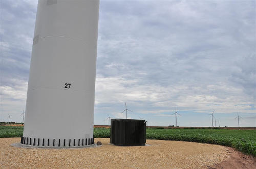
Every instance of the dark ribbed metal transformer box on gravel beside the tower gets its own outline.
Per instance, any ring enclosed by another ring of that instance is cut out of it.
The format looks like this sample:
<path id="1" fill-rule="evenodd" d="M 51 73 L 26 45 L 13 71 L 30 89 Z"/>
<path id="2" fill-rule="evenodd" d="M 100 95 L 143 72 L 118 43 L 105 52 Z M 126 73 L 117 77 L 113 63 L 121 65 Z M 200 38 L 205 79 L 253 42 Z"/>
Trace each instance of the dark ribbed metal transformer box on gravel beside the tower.
<path id="1" fill-rule="evenodd" d="M 118 146 L 144 146 L 145 120 L 111 119 L 110 143 Z"/>

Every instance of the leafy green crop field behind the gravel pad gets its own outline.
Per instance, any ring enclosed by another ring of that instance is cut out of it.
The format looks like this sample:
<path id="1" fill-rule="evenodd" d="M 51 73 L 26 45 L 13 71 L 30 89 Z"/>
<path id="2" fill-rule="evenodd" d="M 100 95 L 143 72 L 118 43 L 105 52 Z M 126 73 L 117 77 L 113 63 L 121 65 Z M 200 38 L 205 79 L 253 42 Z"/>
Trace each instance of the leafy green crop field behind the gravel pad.
<path id="1" fill-rule="evenodd" d="M 23 127 L 0 126 L 0 137 L 21 137 Z M 109 128 L 94 128 L 96 138 L 110 137 Z M 227 129 L 146 129 L 147 139 L 179 140 L 217 144 L 256 156 L 256 130 Z"/>

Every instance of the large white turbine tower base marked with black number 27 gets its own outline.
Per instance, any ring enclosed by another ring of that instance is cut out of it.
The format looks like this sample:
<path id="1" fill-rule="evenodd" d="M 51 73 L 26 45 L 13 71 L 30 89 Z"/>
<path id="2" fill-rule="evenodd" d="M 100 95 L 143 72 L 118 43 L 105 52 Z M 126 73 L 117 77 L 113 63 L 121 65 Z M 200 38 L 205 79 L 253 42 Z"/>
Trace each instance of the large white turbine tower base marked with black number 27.
<path id="1" fill-rule="evenodd" d="M 98 17 L 97 0 L 38 1 L 22 144 L 93 143 Z"/>

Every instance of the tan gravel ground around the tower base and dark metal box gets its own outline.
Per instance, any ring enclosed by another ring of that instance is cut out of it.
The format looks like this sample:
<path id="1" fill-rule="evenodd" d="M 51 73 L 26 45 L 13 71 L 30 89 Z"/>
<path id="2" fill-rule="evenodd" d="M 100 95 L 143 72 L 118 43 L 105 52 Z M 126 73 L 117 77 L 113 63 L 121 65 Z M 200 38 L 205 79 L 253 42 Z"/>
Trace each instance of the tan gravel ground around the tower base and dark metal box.
<path id="1" fill-rule="evenodd" d="M 19 142 L 19 138 L 0 138 L 0 166 L 1 168 L 255 168 L 255 158 L 224 146 L 146 140 L 151 146 L 120 147 L 109 144 L 109 138 L 95 139 L 96 142 L 98 140 L 102 142 L 102 147 L 24 149 L 10 146 Z M 240 159 L 237 160 L 238 158 Z"/>

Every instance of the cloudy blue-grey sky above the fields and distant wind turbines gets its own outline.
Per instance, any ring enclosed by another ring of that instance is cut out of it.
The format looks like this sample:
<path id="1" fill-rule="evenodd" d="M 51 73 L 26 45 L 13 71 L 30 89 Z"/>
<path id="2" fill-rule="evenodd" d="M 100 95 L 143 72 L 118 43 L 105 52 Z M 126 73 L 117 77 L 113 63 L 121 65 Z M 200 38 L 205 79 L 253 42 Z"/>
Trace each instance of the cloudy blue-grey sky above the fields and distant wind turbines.
<path id="1" fill-rule="evenodd" d="M 37 1 L 1 0 L 0 121 L 26 106 Z M 256 127 L 255 1 L 101 1 L 94 124 Z"/>

